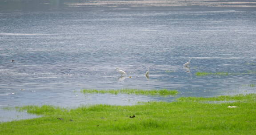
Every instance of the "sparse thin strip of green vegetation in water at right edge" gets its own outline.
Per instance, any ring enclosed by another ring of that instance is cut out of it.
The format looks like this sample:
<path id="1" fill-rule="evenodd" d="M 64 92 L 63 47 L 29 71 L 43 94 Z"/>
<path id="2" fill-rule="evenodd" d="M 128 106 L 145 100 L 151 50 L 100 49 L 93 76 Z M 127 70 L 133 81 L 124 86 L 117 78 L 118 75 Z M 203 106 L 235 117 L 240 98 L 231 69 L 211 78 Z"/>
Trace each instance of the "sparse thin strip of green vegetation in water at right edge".
<path id="1" fill-rule="evenodd" d="M 196 72 L 196 76 L 204 76 L 204 75 L 250 75 L 256 74 L 256 71 L 247 71 L 240 73 L 228 73 L 228 72 Z"/>

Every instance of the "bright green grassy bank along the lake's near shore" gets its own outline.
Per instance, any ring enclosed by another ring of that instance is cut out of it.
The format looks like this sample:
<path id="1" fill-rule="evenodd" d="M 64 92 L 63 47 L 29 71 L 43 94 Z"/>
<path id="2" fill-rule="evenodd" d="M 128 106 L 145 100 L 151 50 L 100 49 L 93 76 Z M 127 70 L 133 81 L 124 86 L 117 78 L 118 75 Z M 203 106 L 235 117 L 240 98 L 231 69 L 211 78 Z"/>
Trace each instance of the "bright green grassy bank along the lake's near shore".
<path id="1" fill-rule="evenodd" d="M 254 135 L 256 131 L 256 94 L 183 97 L 135 106 L 18 109 L 43 117 L 1 123 L 1 135 Z"/>

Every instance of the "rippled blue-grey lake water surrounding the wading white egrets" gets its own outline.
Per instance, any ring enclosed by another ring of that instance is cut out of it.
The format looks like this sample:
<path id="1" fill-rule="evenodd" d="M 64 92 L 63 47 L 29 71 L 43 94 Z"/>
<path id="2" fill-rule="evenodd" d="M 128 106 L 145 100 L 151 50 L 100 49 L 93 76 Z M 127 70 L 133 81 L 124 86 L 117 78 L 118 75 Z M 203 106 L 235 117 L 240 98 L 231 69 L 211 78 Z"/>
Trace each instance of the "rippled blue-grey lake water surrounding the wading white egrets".
<path id="1" fill-rule="evenodd" d="M 12 3 L 0 1 L 0 108 L 132 105 L 180 96 L 256 93 L 253 3 L 249 8 L 185 4 L 138 8 L 56 1 L 40 8 L 26 8 L 22 0 L 21 6 L 5 7 Z M 183 67 L 189 57 L 190 68 Z M 116 67 L 128 75 L 121 77 Z M 144 75 L 148 68 L 149 79 Z M 229 75 L 198 76 L 196 72 Z M 122 88 L 167 88 L 179 94 L 80 92 Z M 13 114 L 1 110 L 0 121 L 10 120 L 5 115 Z"/>

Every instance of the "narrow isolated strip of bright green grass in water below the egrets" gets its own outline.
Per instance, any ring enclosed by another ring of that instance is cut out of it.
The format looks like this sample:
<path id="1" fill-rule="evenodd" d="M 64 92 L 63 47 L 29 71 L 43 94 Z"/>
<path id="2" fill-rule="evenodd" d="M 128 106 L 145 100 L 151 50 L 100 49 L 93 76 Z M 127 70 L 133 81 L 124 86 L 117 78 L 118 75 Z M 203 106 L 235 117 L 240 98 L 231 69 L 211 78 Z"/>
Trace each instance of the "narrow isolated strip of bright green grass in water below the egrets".
<path id="1" fill-rule="evenodd" d="M 84 89 L 81 92 L 85 93 L 109 93 L 109 94 L 136 94 L 136 95 L 177 95 L 177 90 L 168 90 L 168 89 L 160 89 L 160 90 L 139 90 L 139 89 L 120 89 L 120 90 L 96 90 L 96 89 Z"/>

